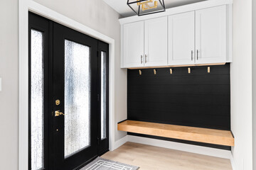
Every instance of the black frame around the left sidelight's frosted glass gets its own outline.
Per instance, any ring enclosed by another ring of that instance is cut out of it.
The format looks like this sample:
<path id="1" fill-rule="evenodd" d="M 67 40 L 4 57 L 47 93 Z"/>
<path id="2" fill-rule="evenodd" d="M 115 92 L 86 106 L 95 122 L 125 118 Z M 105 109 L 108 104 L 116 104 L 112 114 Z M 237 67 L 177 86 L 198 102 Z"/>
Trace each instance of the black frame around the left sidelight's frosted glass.
<path id="1" fill-rule="evenodd" d="M 48 169 L 50 159 L 50 22 L 41 16 L 30 15 L 28 17 L 28 169 L 31 169 L 31 30 L 43 33 L 43 164 Z M 43 169 L 42 169 L 43 170 Z"/>

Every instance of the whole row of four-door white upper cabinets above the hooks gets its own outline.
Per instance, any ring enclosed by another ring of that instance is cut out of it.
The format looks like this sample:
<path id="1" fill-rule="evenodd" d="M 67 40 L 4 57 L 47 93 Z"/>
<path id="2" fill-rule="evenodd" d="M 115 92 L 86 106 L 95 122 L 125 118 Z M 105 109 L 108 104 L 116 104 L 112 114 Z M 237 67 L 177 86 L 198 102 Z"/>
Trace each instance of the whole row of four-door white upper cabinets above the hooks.
<path id="1" fill-rule="evenodd" d="M 230 8 L 197 9 L 122 25 L 122 67 L 231 62 Z"/>

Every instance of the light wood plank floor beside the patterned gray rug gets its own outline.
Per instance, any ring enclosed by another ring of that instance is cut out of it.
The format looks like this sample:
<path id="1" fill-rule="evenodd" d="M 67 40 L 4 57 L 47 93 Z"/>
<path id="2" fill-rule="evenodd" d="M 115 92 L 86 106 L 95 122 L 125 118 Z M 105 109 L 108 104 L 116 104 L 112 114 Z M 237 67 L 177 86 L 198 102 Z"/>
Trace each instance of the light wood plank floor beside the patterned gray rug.
<path id="1" fill-rule="evenodd" d="M 102 158 L 139 166 L 139 170 L 232 170 L 229 159 L 127 142 Z"/>

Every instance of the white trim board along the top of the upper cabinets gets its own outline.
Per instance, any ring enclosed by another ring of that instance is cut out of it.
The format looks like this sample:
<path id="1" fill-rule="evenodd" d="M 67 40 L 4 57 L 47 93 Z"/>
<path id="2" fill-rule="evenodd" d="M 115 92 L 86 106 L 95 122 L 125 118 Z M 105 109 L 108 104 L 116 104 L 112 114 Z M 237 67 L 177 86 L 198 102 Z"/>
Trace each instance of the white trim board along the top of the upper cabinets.
<path id="1" fill-rule="evenodd" d="M 183 6 L 177 6 L 174 8 L 168 8 L 165 12 L 161 13 L 154 13 L 151 15 L 146 16 L 130 16 L 127 18 L 120 18 L 119 23 L 122 25 L 124 23 L 132 23 L 135 21 L 144 21 L 151 18 L 158 18 L 161 16 L 170 16 L 177 13 L 184 13 L 188 11 L 196 11 L 203 8 L 210 8 L 213 6 L 221 6 L 221 5 L 228 5 L 233 4 L 233 0 L 208 0 L 208 1 L 201 1 L 193 4 L 183 5 Z"/>

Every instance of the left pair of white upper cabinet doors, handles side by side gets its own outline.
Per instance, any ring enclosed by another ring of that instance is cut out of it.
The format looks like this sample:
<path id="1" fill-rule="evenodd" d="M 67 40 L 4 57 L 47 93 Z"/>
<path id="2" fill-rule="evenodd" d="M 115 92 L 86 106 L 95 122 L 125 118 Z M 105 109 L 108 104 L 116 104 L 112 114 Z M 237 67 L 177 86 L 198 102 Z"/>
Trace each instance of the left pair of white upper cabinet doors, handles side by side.
<path id="1" fill-rule="evenodd" d="M 167 16 L 124 24 L 124 67 L 167 64 Z"/>

